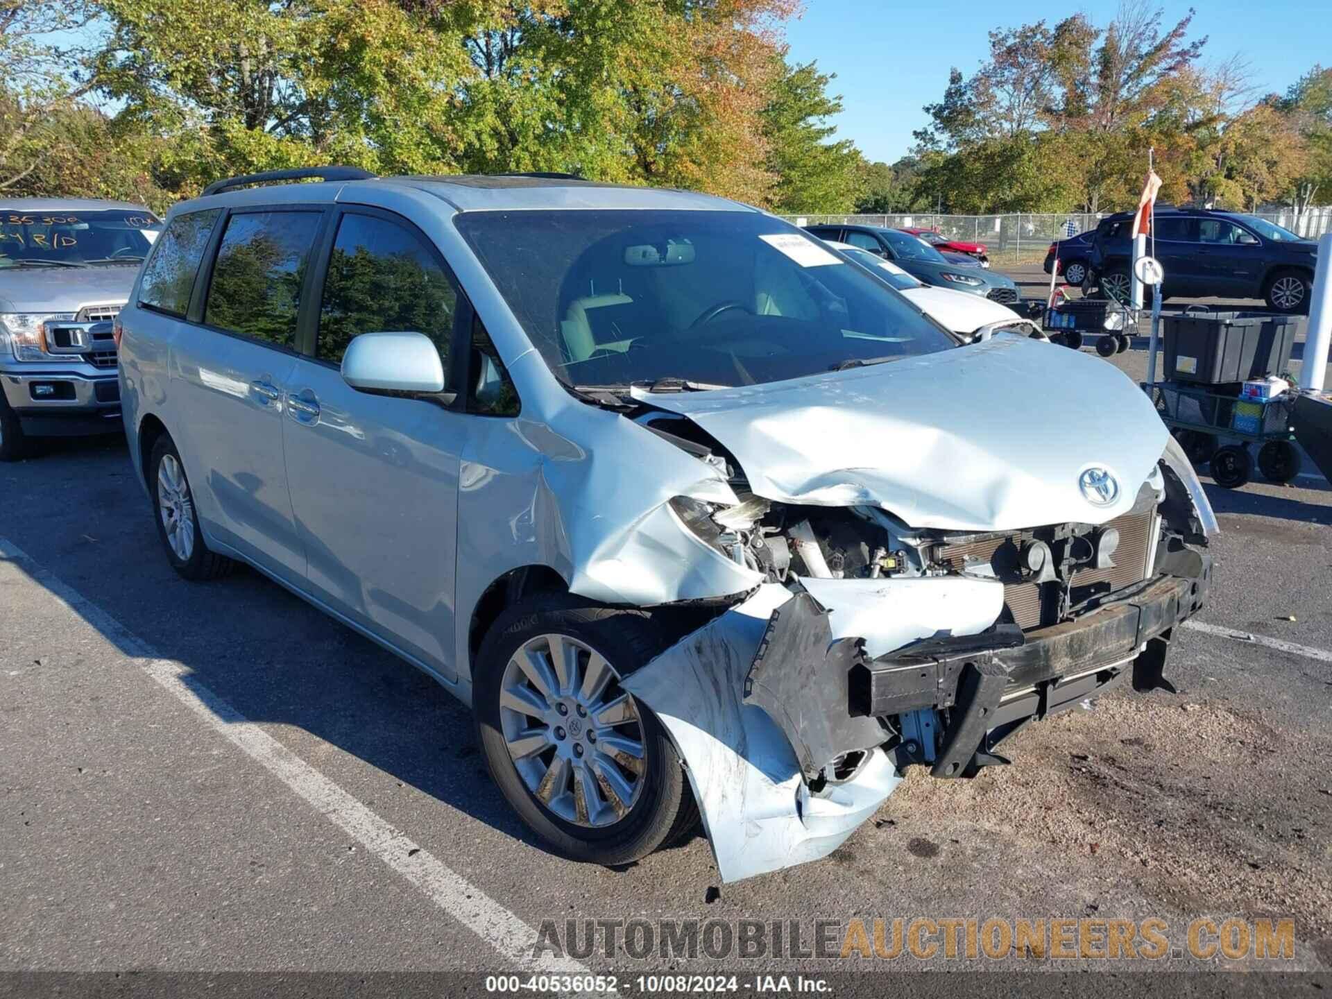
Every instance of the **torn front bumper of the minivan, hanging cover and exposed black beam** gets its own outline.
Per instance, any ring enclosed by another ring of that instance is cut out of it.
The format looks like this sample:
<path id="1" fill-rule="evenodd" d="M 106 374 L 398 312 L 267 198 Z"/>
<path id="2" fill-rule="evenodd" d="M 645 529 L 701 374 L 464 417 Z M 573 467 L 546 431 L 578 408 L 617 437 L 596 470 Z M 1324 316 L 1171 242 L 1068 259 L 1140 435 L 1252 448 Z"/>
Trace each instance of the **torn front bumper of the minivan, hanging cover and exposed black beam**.
<path id="1" fill-rule="evenodd" d="M 995 746 L 1031 719 L 1130 671 L 1138 689 L 1167 686 L 1171 629 L 1201 606 L 1211 578 L 1209 558 L 1200 561 L 1196 577 L 1156 577 L 1026 635 L 991 626 L 992 617 L 971 634 L 926 625 L 895 635 L 912 645 L 876 658 L 882 634 L 846 630 L 867 619 L 864 589 L 846 586 L 858 581 L 821 586 L 818 599 L 765 583 L 623 687 L 670 733 L 718 871 L 739 880 L 830 854 L 908 763 L 927 763 L 935 777 L 971 774 L 1007 762 Z M 923 593 L 944 597 L 947 583 L 970 582 L 938 581 Z M 847 607 L 835 606 L 839 591 Z M 911 619 L 896 603 L 878 610 L 880 619 Z"/>

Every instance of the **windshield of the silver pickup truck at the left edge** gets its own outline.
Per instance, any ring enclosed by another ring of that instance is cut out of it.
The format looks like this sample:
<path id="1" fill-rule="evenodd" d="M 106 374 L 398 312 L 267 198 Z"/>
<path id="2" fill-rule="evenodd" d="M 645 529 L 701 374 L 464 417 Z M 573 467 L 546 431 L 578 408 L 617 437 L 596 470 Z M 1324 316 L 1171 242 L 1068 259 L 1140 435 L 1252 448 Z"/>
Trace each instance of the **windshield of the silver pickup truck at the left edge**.
<path id="1" fill-rule="evenodd" d="M 147 209 L 0 209 L 0 268 L 139 264 L 161 225 Z"/>

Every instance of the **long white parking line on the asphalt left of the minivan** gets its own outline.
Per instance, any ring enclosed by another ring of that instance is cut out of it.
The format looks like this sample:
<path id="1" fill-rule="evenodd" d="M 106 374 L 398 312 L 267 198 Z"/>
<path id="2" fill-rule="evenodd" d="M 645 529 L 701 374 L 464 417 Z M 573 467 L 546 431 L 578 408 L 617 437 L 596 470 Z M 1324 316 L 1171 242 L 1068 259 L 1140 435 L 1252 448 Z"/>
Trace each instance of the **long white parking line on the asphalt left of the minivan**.
<path id="1" fill-rule="evenodd" d="M 121 650 L 136 657 L 144 673 L 157 681 L 214 731 L 261 763 L 278 781 L 304 798 L 329 822 L 360 842 L 396 870 L 434 904 L 462 923 L 510 962 L 534 971 L 578 974 L 587 968 L 570 958 L 543 952 L 533 960 L 537 932 L 484 891 L 456 874 L 433 854 L 396 830 L 324 774 L 292 753 L 254 722 L 204 686 L 188 669 L 164 659 L 147 642 L 91 603 L 59 577 L 43 569 L 5 538 L 0 558 L 25 563 L 57 601 L 79 614 Z"/>

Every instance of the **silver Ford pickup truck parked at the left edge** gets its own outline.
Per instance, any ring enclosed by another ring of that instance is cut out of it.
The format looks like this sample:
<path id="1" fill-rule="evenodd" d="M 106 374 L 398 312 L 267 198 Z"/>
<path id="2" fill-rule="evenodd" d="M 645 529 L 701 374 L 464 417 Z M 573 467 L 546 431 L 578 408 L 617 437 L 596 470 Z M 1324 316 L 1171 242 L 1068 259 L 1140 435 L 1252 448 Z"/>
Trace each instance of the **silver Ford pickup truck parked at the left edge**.
<path id="1" fill-rule="evenodd" d="M 115 318 L 161 221 L 143 205 L 0 200 L 0 461 L 119 433 Z"/>

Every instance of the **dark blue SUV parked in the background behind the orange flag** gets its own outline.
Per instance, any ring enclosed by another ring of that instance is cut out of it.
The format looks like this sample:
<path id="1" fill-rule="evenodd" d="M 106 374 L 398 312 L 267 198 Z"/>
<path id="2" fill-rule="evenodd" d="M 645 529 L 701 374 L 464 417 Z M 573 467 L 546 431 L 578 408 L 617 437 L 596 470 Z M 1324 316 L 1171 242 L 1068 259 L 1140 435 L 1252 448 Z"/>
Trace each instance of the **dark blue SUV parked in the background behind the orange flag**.
<path id="1" fill-rule="evenodd" d="M 1128 298 L 1132 212 L 1103 218 L 1091 238 L 1091 278 Z M 1317 244 L 1251 214 L 1158 208 L 1156 258 L 1166 298 L 1264 298 L 1276 312 L 1308 312 Z M 1148 293 L 1150 298 L 1150 293 Z"/>

